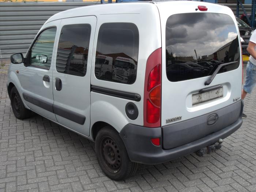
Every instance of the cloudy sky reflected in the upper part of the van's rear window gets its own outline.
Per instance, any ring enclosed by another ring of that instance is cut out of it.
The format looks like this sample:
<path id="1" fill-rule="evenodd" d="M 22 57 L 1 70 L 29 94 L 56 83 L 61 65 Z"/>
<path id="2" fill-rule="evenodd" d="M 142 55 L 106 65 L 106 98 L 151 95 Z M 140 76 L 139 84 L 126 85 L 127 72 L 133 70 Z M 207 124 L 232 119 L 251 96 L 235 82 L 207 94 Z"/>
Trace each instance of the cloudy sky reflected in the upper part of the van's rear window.
<path id="1" fill-rule="evenodd" d="M 215 13 L 176 14 L 167 19 L 166 49 L 173 56 L 210 55 L 237 37 L 230 16 Z"/>

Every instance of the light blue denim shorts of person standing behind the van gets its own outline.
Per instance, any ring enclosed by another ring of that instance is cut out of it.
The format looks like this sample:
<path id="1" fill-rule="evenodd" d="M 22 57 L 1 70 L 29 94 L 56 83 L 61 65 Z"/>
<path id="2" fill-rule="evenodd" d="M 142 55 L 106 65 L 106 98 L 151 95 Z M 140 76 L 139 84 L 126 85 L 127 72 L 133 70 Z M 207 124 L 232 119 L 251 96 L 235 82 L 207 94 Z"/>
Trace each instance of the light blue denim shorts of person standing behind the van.
<path id="1" fill-rule="evenodd" d="M 256 65 L 253 65 L 250 61 L 246 67 L 246 79 L 243 89 L 246 93 L 252 93 L 252 89 L 256 84 Z"/>

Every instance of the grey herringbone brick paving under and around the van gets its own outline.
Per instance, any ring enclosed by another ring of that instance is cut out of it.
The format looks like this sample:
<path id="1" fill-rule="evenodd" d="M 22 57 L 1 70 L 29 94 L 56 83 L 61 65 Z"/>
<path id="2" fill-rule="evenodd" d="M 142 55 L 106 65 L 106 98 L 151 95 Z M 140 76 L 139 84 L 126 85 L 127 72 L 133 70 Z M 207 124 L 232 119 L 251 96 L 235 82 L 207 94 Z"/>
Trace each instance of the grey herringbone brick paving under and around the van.
<path id="1" fill-rule="evenodd" d="M 94 143 L 41 116 L 16 119 L 6 81 L 1 73 L 0 191 L 256 191 L 256 89 L 245 99 L 248 118 L 217 153 L 140 165 L 117 182 L 99 168 Z"/>

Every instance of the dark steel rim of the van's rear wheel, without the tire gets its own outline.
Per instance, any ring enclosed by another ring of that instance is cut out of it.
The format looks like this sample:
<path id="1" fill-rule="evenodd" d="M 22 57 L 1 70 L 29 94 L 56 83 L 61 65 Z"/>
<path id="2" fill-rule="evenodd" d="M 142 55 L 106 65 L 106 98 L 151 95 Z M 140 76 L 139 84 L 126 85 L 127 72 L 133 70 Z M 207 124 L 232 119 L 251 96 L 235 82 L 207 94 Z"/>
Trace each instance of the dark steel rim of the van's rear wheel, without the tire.
<path id="1" fill-rule="evenodd" d="M 105 167 L 109 172 L 117 173 L 121 168 L 122 156 L 114 139 L 105 136 L 101 141 L 101 153 Z"/>

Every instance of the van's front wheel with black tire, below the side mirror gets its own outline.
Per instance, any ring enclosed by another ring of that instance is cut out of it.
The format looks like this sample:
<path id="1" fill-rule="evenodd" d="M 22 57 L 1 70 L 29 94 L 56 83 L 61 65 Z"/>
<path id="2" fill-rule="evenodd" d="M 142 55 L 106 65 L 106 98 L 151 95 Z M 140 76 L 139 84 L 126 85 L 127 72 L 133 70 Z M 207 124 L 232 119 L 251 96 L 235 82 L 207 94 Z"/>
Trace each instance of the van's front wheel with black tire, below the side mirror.
<path id="1" fill-rule="evenodd" d="M 31 116 L 31 110 L 25 108 L 16 87 L 12 87 L 10 98 L 12 111 L 16 118 L 25 119 Z"/>

